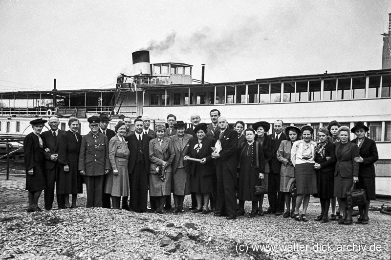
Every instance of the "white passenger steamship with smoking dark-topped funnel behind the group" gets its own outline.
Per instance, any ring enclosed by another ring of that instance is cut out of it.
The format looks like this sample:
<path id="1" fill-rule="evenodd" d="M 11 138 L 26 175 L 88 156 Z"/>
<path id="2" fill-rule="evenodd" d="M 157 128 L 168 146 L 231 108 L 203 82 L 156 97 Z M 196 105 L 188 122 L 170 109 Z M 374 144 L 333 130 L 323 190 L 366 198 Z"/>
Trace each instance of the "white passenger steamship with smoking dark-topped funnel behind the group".
<path id="1" fill-rule="evenodd" d="M 79 118 L 82 135 L 89 132 L 87 118 L 99 113 L 108 113 L 111 129 L 124 116 L 143 114 L 151 117 L 151 128 L 165 123 L 168 114 L 190 126 L 195 112 L 210 122 L 211 109 L 221 111 L 230 127 L 237 120 L 245 127 L 264 120 L 271 124 L 270 131 L 277 119 L 284 127 L 311 125 L 315 132 L 332 120 L 350 128 L 363 121 L 379 151 L 376 193 L 391 195 L 391 69 L 206 83 L 192 79 L 193 65 L 150 64 L 146 50 L 132 53 L 132 60 L 133 71 L 139 73 L 121 74 L 116 88 L 0 93 L 1 138 L 24 136 L 32 131 L 33 117 L 51 115 L 60 116 L 63 130 L 70 116 Z"/>

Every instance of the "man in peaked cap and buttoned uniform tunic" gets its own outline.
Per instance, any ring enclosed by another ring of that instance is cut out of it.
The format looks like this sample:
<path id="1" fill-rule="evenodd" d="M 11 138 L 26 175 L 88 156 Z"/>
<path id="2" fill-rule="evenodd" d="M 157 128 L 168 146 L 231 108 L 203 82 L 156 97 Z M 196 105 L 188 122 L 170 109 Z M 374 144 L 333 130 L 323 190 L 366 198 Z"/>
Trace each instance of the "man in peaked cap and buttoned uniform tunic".
<path id="1" fill-rule="evenodd" d="M 109 173 L 109 141 L 99 133 L 100 118 L 90 117 L 91 130 L 82 138 L 79 154 L 79 172 L 85 177 L 87 187 L 87 208 L 102 207 L 104 176 Z"/>

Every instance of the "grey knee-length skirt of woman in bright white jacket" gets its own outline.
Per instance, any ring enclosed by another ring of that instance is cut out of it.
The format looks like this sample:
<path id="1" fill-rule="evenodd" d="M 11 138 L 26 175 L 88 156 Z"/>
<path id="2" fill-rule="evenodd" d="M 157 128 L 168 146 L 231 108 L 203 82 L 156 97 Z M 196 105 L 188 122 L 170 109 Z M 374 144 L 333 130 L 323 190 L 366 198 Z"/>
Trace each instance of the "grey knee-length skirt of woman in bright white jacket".
<path id="1" fill-rule="evenodd" d="M 318 193 L 314 163 L 300 163 L 295 167 L 297 194 Z"/>

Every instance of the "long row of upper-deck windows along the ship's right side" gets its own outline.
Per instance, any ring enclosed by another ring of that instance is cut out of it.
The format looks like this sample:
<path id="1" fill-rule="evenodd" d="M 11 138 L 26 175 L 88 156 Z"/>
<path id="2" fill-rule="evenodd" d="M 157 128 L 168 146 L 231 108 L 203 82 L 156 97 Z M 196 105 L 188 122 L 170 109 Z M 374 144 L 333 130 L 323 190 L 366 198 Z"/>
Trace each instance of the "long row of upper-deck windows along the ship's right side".
<path id="1" fill-rule="evenodd" d="M 355 100 L 391 97 L 391 76 L 162 89 L 150 105 L 214 105 Z"/>

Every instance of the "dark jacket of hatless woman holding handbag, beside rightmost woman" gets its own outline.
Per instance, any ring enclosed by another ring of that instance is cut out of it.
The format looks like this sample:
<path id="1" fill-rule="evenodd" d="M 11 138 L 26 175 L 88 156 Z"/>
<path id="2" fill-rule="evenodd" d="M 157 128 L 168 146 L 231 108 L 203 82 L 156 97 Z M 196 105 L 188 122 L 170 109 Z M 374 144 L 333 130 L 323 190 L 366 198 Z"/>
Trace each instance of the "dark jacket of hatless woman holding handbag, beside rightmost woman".
<path id="1" fill-rule="evenodd" d="M 341 153 L 339 153 L 340 146 L 341 142 L 335 143 L 335 157 L 337 158 L 337 162 L 335 164 L 334 175 L 337 176 L 340 173 L 342 177 L 351 179 L 353 179 L 353 176 L 358 177 L 359 163 L 354 160 L 355 157 L 360 156 L 357 144 L 348 142 Z"/>

